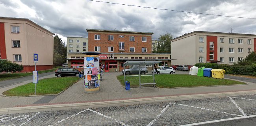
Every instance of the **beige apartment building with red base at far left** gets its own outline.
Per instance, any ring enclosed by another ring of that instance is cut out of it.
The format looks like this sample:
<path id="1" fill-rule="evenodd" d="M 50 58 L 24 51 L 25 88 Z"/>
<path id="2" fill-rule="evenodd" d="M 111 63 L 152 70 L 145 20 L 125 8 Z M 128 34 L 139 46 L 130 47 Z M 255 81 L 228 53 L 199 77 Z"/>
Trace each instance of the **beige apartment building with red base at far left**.
<path id="1" fill-rule="evenodd" d="M 0 17 L 0 59 L 22 64 L 22 72 L 32 72 L 33 54 L 38 54 L 37 70 L 52 69 L 53 35 L 29 19 Z"/>

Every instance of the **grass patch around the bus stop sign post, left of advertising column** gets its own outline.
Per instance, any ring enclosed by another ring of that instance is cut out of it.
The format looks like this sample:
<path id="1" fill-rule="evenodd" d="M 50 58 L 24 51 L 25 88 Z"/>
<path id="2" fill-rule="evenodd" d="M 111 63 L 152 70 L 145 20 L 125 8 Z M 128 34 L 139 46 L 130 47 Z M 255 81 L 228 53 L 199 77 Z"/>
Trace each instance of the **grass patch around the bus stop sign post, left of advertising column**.
<path id="1" fill-rule="evenodd" d="M 50 95 L 58 94 L 61 91 L 67 89 L 74 82 L 79 80 L 78 77 L 61 77 L 61 78 L 45 78 L 38 80 L 37 83 L 37 95 Z M 3 93 L 3 95 L 8 96 L 28 96 L 34 95 L 35 93 L 35 84 L 28 83 L 9 89 Z"/>

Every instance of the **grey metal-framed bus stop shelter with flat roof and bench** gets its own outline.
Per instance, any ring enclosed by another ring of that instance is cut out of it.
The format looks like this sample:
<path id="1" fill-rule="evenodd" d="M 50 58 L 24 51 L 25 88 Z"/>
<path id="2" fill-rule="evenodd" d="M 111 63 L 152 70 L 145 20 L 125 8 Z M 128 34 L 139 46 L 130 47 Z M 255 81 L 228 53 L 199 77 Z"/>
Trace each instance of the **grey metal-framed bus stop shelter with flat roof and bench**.
<path id="1" fill-rule="evenodd" d="M 141 85 L 154 85 L 155 87 L 155 76 L 154 76 L 154 64 L 156 63 L 161 63 L 162 61 L 141 61 L 141 60 L 138 60 L 138 61 L 126 61 L 124 63 L 124 85 L 125 85 L 125 66 L 127 65 L 137 65 L 139 66 L 139 87 L 141 88 Z M 140 70 L 140 66 L 151 66 L 152 65 L 152 76 L 153 76 L 153 83 L 141 83 L 141 70 Z"/>

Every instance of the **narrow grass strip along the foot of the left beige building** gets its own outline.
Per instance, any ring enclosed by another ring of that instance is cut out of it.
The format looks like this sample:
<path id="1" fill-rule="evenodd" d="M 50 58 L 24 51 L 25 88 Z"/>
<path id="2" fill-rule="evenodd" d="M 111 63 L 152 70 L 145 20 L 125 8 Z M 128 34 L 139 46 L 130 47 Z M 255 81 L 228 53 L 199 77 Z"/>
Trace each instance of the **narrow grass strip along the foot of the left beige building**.
<path id="1" fill-rule="evenodd" d="M 52 72 L 57 69 L 58 68 L 54 68 L 54 69 L 50 69 L 50 70 L 41 70 L 41 71 L 38 71 L 38 74 L 45 73 L 45 72 Z M 33 72 L 0 74 L 0 81 L 14 79 L 14 78 L 20 78 L 23 76 L 30 76 L 30 75 L 33 75 Z"/>

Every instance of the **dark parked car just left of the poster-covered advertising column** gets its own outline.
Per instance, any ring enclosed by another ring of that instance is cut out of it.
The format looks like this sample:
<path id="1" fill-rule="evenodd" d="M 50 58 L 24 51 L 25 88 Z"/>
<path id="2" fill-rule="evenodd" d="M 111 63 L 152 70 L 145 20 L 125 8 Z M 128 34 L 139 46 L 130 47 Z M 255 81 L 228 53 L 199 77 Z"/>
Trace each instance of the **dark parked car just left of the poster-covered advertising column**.
<path id="1" fill-rule="evenodd" d="M 58 68 L 55 71 L 55 76 L 62 77 L 62 76 L 79 76 L 80 71 L 74 69 L 74 68 Z"/>

